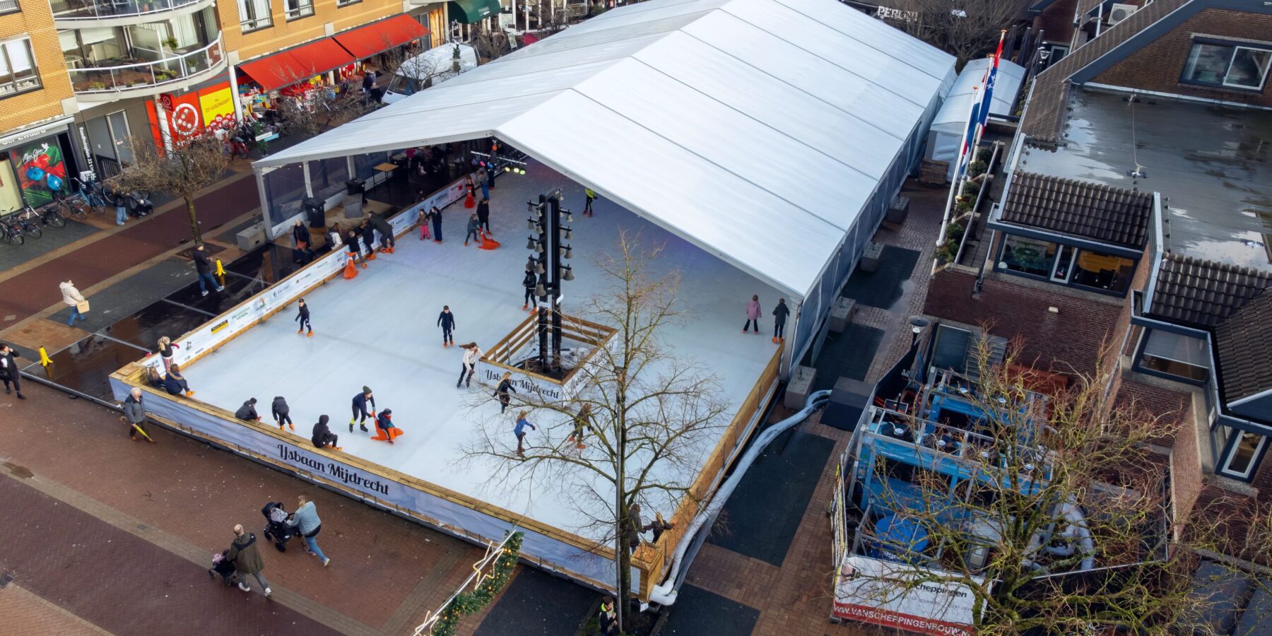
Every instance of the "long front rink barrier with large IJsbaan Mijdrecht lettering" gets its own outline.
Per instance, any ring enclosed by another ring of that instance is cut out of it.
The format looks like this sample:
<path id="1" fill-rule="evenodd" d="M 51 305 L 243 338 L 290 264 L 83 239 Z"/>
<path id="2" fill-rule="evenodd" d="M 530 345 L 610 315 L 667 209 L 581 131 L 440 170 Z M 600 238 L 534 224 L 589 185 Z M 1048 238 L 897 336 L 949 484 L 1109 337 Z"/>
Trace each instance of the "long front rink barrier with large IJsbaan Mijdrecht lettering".
<path id="1" fill-rule="evenodd" d="M 111 391 L 122 401 L 134 387 L 140 388 L 148 415 L 165 426 L 474 543 L 497 542 L 505 532 L 520 529 L 527 562 L 598 589 L 614 589 L 612 548 L 363 458 L 314 448 L 309 439 L 272 425 L 238 420 L 228 410 L 155 391 L 142 382 L 142 373 L 139 364 L 113 373 Z M 641 572 L 632 574 L 640 580 Z"/>

